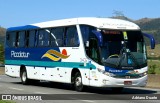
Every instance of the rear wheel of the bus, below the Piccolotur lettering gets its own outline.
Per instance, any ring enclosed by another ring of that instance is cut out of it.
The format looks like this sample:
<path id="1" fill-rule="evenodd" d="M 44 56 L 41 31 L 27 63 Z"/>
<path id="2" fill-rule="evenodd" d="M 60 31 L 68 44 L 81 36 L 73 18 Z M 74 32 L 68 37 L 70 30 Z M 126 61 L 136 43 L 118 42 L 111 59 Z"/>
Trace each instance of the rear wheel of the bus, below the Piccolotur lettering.
<path id="1" fill-rule="evenodd" d="M 27 71 L 26 71 L 25 68 L 22 69 L 20 77 L 21 77 L 21 82 L 22 82 L 23 85 L 29 84 L 30 80 L 27 77 Z"/>

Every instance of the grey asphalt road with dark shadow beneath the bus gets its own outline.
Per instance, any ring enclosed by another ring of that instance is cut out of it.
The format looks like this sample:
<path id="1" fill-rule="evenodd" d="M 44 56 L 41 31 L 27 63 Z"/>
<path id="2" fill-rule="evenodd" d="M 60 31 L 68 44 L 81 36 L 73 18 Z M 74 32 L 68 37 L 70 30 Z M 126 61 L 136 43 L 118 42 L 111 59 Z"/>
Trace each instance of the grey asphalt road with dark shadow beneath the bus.
<path id="1" fill-rule="evenodd" d="M 21 101 L 25 97 L 37 96 L 38 100 L 32 103 L 159 103 L 160 89 L 151 88 L 125 88 L 121 94 L 114 93 L 109 88 L 88 87 L 84 92 L 76 92 L 68 84 L 50 83 L 41 81 L 31 85 L 22 85 L 20 78 L 11 78 L 0 75 L 0 95 L 11 95 L 12 99 L 19 103 L 31 103 L 31 101 Z M 135 97 L 140 97 L 139 99 Z M 17 98 L 16 98 L 17 97 Z M 155 98 L 154 98 L 155 97 Z M 156 99 L 157 97 L 157 99 Z M 152 100 L 153 99 L 153 100 Z"/>

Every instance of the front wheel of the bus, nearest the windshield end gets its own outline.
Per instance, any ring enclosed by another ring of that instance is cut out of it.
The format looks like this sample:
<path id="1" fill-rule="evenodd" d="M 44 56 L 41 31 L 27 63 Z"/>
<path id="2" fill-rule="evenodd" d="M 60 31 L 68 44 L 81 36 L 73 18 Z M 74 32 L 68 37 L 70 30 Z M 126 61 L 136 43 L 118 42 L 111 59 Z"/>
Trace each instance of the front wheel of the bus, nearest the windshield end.
<path id="1" fill-rule="evenodd" d="M 82 76 L 79 72 L 77 72 L 74 76 L 74 89 L 78 92 L 82 92 L 84 89 L 84 86 L 82 83 Z"/>

